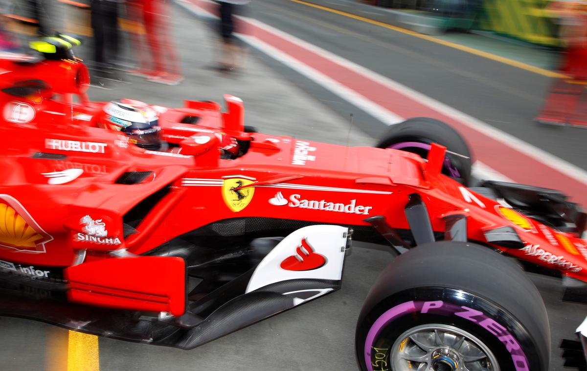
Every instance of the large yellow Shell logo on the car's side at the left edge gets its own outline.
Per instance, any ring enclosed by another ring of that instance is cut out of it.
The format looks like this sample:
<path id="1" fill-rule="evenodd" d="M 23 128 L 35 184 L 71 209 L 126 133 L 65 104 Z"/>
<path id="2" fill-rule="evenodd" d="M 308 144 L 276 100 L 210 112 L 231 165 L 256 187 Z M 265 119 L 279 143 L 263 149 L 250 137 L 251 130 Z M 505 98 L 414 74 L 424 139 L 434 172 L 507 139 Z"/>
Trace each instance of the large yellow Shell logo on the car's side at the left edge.
<path id="1" fill-rule="evenodd" d="M 52 240 L 21 203 L 11 195 L 0 194 L 0 247 L 45 252 L 45 244 Z"/>

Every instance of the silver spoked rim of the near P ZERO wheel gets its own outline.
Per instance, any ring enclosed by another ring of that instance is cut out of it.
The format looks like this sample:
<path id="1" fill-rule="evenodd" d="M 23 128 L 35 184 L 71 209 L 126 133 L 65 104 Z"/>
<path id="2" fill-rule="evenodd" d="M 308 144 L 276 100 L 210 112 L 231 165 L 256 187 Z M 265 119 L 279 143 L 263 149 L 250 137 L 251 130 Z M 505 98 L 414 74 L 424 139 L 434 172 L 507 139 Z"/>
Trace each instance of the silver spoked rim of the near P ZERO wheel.
<path id="1" fill-rule="evenodd" d="M 454 326 L 416 326 L 393 343 L 390 360 L 397 371 L 499 371 L 497 359 L 481 340 Z"/>

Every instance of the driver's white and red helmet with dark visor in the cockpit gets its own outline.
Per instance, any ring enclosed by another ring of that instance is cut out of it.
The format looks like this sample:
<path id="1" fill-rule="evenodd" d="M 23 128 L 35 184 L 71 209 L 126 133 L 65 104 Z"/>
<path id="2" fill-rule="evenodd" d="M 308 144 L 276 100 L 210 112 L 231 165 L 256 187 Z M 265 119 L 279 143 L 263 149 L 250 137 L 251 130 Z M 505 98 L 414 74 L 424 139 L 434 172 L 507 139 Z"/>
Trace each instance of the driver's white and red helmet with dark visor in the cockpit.
<path id="1" fill-rule="evenodd" d="M 130 143 L 146 150 L 159 150 L 159 117 L 148 104 L 134 99 L 119 99 L 107 103 L 103 108 L 100 126 L 121 131 L 129 137 Z"/>

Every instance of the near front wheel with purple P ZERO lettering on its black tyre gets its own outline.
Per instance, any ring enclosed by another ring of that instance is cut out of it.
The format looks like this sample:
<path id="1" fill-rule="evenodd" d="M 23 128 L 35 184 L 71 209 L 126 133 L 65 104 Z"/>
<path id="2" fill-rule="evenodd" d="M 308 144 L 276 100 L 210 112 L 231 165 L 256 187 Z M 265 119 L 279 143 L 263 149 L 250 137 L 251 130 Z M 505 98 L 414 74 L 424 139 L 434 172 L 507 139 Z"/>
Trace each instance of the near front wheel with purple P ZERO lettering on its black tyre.
<path id="1" fill-rule="evenodd" d="M 534 284 L 510 259 L 467 242 L 397 257 L 367 296 L 355 340 L 363 371 L 546 371 L 550 356 Z"/>

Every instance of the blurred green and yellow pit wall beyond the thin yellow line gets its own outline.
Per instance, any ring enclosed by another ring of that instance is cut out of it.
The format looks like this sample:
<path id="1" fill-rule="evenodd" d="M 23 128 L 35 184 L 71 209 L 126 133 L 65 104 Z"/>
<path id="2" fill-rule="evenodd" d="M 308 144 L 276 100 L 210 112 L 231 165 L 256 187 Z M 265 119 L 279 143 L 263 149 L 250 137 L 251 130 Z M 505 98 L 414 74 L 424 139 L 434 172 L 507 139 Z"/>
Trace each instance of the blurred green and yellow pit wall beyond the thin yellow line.
<path id="1" fill-rule="evenodd" d="M 447 29 L 493 32 L 541 46 L 562 46 L 552 0 L 305 0 L 374 21 L 440 35 Z M 372 6 L 379 6 L 373 12 Z M 435 10 L 432 10 L 435 9 Z"/>

